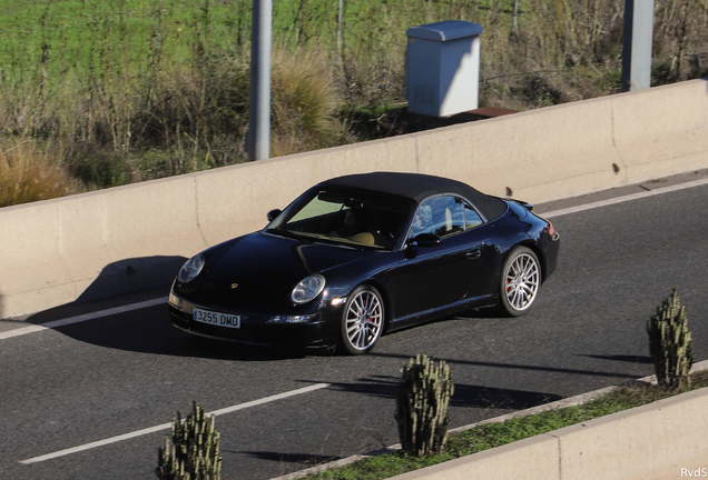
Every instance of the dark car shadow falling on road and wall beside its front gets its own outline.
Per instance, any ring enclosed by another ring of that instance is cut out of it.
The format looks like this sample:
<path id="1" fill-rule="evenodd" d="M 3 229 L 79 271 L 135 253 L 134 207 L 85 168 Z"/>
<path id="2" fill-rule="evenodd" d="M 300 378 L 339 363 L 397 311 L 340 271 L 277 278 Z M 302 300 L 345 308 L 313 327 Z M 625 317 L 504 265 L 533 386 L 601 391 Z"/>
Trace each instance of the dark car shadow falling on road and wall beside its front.
<path id="1" fill-rule="evenodd" d="M 184 257 L 149 257 L 110 263 L 75 302 L 35 313 L 24 322 L 50 326 L 67 337 L 97 347 L 142 353 L 242 361 L 312 354 L 209 340 L 177 330 L 167 310 L 167 293 L 185 260 Z M 145 301 L 150 303 L 132 307 Z M 67 324 L 57 326 L 57 322 Z"/>

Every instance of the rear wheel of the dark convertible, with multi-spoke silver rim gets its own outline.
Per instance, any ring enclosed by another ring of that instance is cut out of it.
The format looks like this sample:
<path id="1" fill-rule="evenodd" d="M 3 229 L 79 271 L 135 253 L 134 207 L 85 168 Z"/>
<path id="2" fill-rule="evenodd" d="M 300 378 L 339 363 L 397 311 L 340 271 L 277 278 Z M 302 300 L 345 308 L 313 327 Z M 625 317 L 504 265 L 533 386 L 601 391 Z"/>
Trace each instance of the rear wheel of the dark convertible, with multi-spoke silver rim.
<path id="1" fill-rule="evenodd" d="M 499 306 L 503 313 L 519 317 L 531 310 L 541 287 L 541 264 L 533 251 L 517 247 L 511 251 L 501 274 Z"/>

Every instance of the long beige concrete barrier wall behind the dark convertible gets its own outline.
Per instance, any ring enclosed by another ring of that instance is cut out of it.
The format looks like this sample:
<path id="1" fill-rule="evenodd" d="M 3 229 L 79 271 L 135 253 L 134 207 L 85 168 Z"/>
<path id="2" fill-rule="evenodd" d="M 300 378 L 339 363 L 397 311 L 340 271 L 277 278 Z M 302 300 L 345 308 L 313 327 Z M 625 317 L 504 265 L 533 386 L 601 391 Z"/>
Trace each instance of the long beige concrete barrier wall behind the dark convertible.
<path id="1" fill-rule="evenodd" d="M 167 281 L 317 181 L 451 177 L 542 202 L 708 168 L 708 81 L 0 209 L 0 318 Z"/>

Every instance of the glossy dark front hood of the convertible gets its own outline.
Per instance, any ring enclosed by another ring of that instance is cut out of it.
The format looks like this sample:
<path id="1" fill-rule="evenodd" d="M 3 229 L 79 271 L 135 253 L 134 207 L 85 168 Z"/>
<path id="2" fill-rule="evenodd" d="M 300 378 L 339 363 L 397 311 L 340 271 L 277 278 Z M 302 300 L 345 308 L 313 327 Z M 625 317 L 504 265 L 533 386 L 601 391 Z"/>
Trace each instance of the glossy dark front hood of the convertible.
<path id="1" fill-rule="evenodd" d="M 256 232 L 230 240 L 208 259 L 194 286 L 179 290 L 206 306 L 263 309 L 292 307 L 293 288 L 305 277 L 374 252 Z"/>

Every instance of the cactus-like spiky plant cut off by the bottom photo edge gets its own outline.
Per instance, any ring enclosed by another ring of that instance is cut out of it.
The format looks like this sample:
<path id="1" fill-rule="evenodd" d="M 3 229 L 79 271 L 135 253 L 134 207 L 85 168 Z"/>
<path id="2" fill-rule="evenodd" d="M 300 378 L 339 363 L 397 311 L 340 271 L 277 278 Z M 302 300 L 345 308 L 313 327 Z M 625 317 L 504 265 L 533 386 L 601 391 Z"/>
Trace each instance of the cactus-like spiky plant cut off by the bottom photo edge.
<path id="1" fill-rule="evenodd" d="M 214 416 L 207 418 L 195 401 L 185 421 L 181 412 L 173 419 L 171 444 L 165 439 L 165 448 L 158 452 L 157 477 L 160 480 L 219 480 L 222 454 L 219 432 Z"/>

